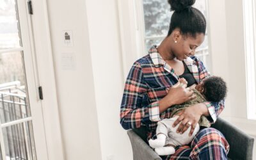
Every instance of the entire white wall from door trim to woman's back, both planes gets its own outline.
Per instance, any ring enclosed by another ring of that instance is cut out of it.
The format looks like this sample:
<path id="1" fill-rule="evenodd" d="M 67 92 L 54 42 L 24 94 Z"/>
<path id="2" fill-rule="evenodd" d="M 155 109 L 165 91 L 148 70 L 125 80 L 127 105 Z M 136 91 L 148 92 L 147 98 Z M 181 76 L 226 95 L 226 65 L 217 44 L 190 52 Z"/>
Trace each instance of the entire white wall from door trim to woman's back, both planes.
<path id="1" fill-rule="evenodd" d="M 117 1 L 48 1 L 48 9 L 66 159 L 132 159 L 119 124 L 124 76 Z M 72 31 L 74 47 L 63 45 L 63 30 Z M 73 70 L 63 70 L 63 52 L 74 53 Z"/>

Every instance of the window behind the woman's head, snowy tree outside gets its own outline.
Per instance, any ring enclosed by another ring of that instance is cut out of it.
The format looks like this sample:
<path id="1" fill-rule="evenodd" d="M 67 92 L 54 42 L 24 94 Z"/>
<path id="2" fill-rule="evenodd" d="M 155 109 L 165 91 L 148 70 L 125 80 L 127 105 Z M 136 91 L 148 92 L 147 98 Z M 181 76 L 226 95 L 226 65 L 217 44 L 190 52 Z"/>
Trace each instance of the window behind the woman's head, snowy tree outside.
<path id="1" fill-rule="evenodd" d="M 207 0 L 196 1 L 194 7 L 198 8 L 198 10 L 200 10 L 207 19 Z M 141 34 L 145 44 L 145 53 L 147 53 L 148 49 L 150 49 L 152 45 L 159 45 L 166 37 L 172 13 L 173 12 L 170 12 L 170 5 L 166 0 L 143 0 L 145 30 Z M 211 67 L 211 61 L 209 57 L 207 31 L 203 44 L 196 49 L 196 56 L 204 62 L 208 70 L 211 70 L 209 68 Z"/>

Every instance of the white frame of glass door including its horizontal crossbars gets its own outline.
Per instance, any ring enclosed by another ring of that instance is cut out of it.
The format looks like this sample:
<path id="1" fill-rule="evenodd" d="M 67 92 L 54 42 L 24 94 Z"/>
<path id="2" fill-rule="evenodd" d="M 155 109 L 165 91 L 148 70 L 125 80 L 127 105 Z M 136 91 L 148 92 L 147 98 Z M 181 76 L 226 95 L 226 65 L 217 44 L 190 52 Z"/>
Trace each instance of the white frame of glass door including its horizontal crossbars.
<path id="1" fill-rule="evenodd" d="M 33 136 L 32 138 L 35 140 L 35 150 L 36 157 L 38 160 L 48 159 L 47 154 L 47 143 L 45 138 L 45 128 L 44 128 L 44 118 L 42 114 L 42 104 L 40 99 L 38 99 L 38 91 L 37 86 L 38 82 L 36 81 L 36 68 L 35 68 L 35 56 L 33 54 L 33 38 L 31 37 L 31 26 L 29 26 L 29 17 L 28 17 L 28 6 L 26 0 L 17 0 L 17 18 L 19 20 L 19 34 L 22 41 L 22 47 L 18 47 L 15 49 L 6 49 L 6 51 L 1 52 L 23 52 L 22 61 L 24 60 L 24 74 L 26 76 L 26 85 L 27 94 L 24 97 L 29 97 L 29 110 L 31 111 L 31 117 L 22 118 L 19 120 L 14 120 L 11 122 L 7 122 L 1 124 L 1 149 L 3 159 L 6 159 L 6 152 L 3 140 L 3 132 L 2 129 L 6 127 L 10 127 L 15 124 L 22 124 L 25 126 L 24 122 L 31 122 L 33 125 Z M 4 92 L 3 92 L 4 94 Z M 15 95 L 15 94 L 13 94 Z M 36 117 L 36 118 L 35 118 Z M 26 131 L 25 131 L 26 132 Z M 26 137 L 25 137 L 26 138 Z M 33 141 L 34 141 L 33 140 Z M 31 153 L 32 154 L 32 153 Z"/>

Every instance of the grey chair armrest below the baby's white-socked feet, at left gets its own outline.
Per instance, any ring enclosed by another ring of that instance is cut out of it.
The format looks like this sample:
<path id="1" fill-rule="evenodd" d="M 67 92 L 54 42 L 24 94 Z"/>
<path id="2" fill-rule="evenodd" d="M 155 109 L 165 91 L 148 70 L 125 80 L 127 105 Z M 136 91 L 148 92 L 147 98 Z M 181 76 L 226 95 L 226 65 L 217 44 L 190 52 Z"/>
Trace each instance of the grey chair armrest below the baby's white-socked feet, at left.
<path id="1" fill-rule="evenodd" d="M 132 153 L 134 160 L 161 160 L 161 157 L 150 148 L 140 136 L 138 136 L 132 129 L 127 131 L 132 144 Z"/>

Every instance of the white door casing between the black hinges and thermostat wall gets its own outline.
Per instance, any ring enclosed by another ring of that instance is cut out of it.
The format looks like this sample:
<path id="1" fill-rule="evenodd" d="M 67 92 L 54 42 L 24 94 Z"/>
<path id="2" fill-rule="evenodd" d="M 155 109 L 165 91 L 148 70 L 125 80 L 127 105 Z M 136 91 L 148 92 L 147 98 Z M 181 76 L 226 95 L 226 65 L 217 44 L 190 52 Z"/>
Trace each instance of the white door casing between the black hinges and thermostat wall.
<path id="1" fill-rule="evenodd" d="M 63 160 L 65 155 L 61 138 L 47 1 L 32 0 L 32 5 L 33 15 L 28 16 L 33 32 L 33 52 L 35 53 L 35 67 L 38 75 L 37 86 L 42 86 L 44 94 L 44 100 L 41 102 L 48 160 Z"/>

